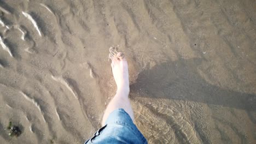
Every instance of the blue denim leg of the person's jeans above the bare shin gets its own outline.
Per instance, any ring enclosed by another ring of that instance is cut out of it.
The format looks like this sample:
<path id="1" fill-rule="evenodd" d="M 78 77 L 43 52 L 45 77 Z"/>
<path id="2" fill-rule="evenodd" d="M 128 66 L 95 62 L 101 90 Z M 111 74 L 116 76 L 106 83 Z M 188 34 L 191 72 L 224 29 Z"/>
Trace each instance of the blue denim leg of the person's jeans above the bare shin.
<path id="1" fill-rule="evenodd" d="M 124 109 L 109 114 L 105 125 L 85 143 L 148 143 Z"/>

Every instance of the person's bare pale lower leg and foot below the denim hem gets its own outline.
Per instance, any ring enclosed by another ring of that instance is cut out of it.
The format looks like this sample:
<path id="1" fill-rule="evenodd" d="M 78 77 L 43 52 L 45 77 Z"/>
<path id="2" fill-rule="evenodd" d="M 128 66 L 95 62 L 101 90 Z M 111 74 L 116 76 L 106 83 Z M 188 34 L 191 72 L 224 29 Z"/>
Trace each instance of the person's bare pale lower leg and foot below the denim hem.
<path id="1" fill-rule="evenodd" d="M 120 108 L 124 109 L 129 114 L 132 121 L 134 120 L 134 115 L 129 100 L 130 86 L 128 64 L 123 53 L 118 52 L 117 55 L 113 57 L 111 67 L 115 83 L 117 84 L 117 93 L 109 102 L 104 112 L 101 123 L 102 126 L 105 124 L 109 114 Z"/>

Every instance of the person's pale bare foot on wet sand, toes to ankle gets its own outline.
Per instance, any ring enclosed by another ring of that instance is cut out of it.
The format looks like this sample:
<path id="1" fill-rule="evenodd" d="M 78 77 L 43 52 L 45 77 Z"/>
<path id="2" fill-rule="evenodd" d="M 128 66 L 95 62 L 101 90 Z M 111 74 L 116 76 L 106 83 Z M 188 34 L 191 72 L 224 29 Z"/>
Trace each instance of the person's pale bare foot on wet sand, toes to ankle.
<path id="1" fill-rule="evenodd" d="M 115 83 L 117 83 L 117 91 L 129 94 L 128 64 L 123 53 L 118 52 L 117 55 L 113 57 L 111 67 Z"/>

